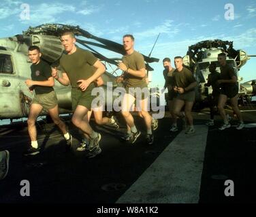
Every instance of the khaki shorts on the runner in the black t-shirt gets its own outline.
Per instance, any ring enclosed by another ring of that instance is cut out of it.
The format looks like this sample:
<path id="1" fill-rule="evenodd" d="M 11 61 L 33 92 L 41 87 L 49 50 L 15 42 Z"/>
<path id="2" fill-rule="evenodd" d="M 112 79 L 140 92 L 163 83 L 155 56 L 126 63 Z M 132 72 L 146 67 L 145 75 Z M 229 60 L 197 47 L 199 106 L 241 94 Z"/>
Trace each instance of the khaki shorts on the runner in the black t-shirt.
<path id="1" fill-rule="evenodd" d="M 54 91 L 47 94 L 35 94 L 32 104 L 40 104 L 44 109 L 53 109 L 58 104 L 58 99 Z"/>

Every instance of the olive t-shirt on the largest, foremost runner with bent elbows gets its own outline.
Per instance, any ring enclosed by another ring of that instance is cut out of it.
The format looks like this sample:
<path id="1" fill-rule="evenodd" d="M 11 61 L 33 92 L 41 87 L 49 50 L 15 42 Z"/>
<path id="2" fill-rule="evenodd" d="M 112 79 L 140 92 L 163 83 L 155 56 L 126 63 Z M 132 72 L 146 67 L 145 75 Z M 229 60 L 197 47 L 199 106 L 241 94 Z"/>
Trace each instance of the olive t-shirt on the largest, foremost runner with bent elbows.
<path id="1" fill-rule="evenodd" d="M 89 79 L 96 68 L 93 66 L 97 58 L 88 50 L 76 47 L 73 54 L 63 54 L 59 60 L 61 70 L 67 73 L 71 87 L 78 87 L 77 81 L 80 79 Z M 95 84 L 92 82 L 86 91 L 92 90 Z"/>

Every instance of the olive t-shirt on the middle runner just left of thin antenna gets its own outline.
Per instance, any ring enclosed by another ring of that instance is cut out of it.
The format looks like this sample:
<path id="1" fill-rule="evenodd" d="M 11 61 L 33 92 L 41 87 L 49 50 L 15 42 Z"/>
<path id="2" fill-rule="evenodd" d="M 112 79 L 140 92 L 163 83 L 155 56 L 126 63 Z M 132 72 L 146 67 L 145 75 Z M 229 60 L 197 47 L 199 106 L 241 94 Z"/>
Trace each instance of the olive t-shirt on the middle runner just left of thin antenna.
<path id="1" fill-rule="evenodd" d="M 130 55 L 123 56 L 123 63 L 135 71 L 139 71 L 142 68 L 146 68 L 144 57 L 139 52 L 134 51 Z M 129 73 L 125 73 L 125 87 L 147 87 L 146 77 L 140 78 Z"/>

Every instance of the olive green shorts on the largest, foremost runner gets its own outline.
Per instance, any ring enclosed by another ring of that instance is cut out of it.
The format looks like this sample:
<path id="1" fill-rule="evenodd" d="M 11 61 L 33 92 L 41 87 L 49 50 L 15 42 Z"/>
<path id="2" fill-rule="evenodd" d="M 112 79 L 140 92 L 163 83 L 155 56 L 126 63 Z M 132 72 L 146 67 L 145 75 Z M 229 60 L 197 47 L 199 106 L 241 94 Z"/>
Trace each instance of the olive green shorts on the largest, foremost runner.
<path id="1" fill-rule="evenodd" d="M 95 96 L 91 96 L 91 90 L 84 91 L 80 88 L 72 88 L 71 99 L 72 99 L 72 110 L 75 111 L 78 105 L 84 106 L 86 109 L 91 109 L 91 103 Z"/>

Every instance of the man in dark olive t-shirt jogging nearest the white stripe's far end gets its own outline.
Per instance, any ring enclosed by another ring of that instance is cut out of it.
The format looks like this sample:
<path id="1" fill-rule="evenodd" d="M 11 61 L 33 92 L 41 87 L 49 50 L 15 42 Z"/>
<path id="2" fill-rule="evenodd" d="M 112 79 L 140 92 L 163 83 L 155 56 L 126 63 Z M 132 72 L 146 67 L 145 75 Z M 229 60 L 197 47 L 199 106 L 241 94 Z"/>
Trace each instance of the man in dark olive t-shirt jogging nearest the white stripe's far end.
<path id="1" fill-rule="evenodd" d="M 186 118 L 188 123 L 185 134 L 193 134 L 195 129 L 193 127 L 193 116 L 191 113 L 193 103 L 195 101 L 195 87 L 197 81 L 189 69 L 183 66 L 181 56 L 174 58 L 176 70 L 174 71 L 174 91 L 177 96 L 174 99 L 174 115 Z M 185 113 L 180 113 L 180 110 L 185 105 Z"/>

